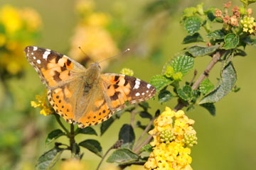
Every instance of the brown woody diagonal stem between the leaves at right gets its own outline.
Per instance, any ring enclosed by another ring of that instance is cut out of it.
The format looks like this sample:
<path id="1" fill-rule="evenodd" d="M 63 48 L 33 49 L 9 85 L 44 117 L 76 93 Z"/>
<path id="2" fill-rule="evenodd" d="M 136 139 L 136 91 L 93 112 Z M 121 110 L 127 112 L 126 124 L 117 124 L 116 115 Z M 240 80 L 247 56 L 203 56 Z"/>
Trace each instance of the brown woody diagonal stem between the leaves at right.
<path id="1" fill-rule="evenodd" d="M 203 79 L 205 79 L 206 77 L 208 77 L 210 70 L 215 66 L 215 64 L 218 62 L 218 60 L 220 60 L 220 57 L 225 53 L 225 50 L 223 51 L 217 51 L 215 52 L 215 54 L 213 55 L 212 60 L 210 61 L 210 63 L 208 64 L 208 66 L 206 67 L 206 69 L 203 71 L 203 73 L 198 77 L 198 79 L 196 80 L 196 82 L 193 84 L 192 89 L 198 89 L 199 85 L 201 84 L 201 82 L 203 81 Z M 175 106 L 174 111 L 178 111 L 181 110 L 181 108 L 183 108 L 184 106 L 186 106 L 184 103 L 182 103 L 182 101 L 178 101 L 178 104 Z"/>

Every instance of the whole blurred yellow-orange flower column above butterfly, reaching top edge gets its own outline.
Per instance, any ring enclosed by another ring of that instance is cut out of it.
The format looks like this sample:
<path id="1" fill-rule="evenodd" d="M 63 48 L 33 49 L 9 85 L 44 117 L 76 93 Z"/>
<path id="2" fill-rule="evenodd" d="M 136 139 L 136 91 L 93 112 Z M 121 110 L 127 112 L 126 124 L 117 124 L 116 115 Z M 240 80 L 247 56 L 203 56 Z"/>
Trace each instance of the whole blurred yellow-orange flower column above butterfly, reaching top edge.
<path id="1" fill-rule="evenodd" d="M 95 1 L 93 0 L 79 0 L 76 4 L 76 11 L 80 18 L 78 26 L 75 28 L 75 35 L 71 40 L 69 55 L 87 66 L 92 63 L 90 59 L 100 62 L 116 55 L 119 50 L 106 29 L 110 24 L 110 16 L 107 16 L 106 13 L 95 12 Z M 78 46 L 86 55 L 78 49 Z M 106 68 L 109 62 L 109 60 L 102 62 L 100 67 Z"/>

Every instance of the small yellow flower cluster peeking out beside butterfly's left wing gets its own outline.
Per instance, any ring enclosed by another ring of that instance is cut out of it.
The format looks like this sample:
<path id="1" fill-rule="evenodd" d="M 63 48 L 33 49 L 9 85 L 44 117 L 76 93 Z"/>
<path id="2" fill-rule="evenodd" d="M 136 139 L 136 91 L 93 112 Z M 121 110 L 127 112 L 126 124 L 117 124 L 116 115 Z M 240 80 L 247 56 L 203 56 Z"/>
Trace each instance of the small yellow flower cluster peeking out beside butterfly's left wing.
<path id="1" fill-rule="evenodd" d="M 54 113 L 53 108 L 47 102 L 47 90 L 42 96 L 36 95 L 36 101 L 31 101 L 31 106 L 33 108 L 41 108 L 41 115 L 50 115 Z"/>

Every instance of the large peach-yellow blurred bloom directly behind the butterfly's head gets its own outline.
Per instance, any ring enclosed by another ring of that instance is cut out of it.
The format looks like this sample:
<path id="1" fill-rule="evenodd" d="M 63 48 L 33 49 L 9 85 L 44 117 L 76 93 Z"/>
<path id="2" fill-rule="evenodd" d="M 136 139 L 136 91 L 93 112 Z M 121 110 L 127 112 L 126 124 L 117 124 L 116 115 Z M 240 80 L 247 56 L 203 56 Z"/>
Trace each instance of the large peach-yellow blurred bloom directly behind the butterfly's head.
<path id="1" fill-rule="evenodd" d="M 82 47 L 86 56 L 78 49 Z M 95 26 L 78 26 L 72 38 L 69 55 L 78 61 L 101 61 L 118 53 L 117 45 L 105 28 Z M 100 63 L 102 69 L 106 68 L 110 60 Z M 91 63 L 87 63 L 88 65 Z"/>

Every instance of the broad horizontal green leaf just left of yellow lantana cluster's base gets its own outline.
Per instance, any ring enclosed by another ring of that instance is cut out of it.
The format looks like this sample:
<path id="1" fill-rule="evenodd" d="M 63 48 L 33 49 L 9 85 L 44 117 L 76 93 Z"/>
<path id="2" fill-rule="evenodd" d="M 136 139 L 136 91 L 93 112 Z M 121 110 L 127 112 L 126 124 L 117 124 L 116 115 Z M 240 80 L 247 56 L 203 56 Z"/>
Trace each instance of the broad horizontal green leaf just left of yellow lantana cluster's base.
<path id="1" fill-rule="evenodd" d="M 136 162 L 139 159 L 139 155 L 132 152 L 130 149 L 122 148 L 115 150 L 107 159 L 108 163 L 117 164 L 129 164 Z"/>

